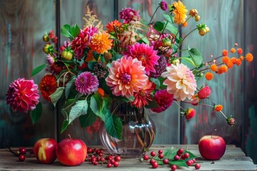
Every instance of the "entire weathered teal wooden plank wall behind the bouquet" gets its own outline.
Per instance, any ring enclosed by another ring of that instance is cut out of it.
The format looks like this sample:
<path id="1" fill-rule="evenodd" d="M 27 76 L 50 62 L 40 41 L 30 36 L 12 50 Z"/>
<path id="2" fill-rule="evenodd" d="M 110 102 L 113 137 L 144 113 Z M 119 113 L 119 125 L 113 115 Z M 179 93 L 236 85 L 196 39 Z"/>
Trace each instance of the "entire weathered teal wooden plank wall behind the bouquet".
<path id="1" fill-rule="evenodd" d="M 84 12 L 87 4 L 95 7 L 99 19 L 103 24 L 117 16 L 114 11 L 115 0 L 96 1 L 69 1 L 61 0 L 61 26 L 64 24 L 78 24 L 84 26 Z M 94 2 L 96 4 L 94 4 Z M 131 2 L 133 2 L 131 4 Z M 149 13 L 153 13 L 159 1 L 126 0 L 118 1 L 118 10 L 125 6 L 138 8 L 143 19 L 149 20 Z M 172 1 L 168 1 L 171 3 Z M 187 9 L 196 8 L 201 16 L 201 21 L 206 23 L 211 32 L 206 36 L 198 36 L 193 33 L 185 41 L 185 45 L 198 48 L 206 61 L 211 55 L 218 56 L 223 48 L 231 48 L 238 43 L 245 51 L 256 53 L 256 17 L 255 0 L 191 0 L 183 1 Z M 96 6 L 95 6 L 96 5 Z M 160 16 L 158 11 L 158 15 Z M 56 131 L 55 111 L 51 104 L 44 104 L 44 116 L 36 125 L 31 124 L 29 115 L 24 113 L 12 113 L 5 102 L 5 94 L 9 83 L 18 77 L 29 78 L 32 68 L 44 63 L 45 54 L 41 51 L 44 42 L 41 36 L 51 29 L 55 29 L 55 0 L 1 0 L 0 1 L 0 147 L 9 145 L 33 145 L 34 141 L 43 137 L 55 137 Z M 119 16 L 119 15 L 118 15 Z M 196 26 L 194 22 L 188 22 L 188 27 L 183 28 L 183 33 Z M 61 42 L 65 39 L 61 37 Z M 155 144 L 192 144 L 197 143 L 202 135 L 212 133 L 216 128 L 218 135 L 223 136 L 228 144 L 236 144 L 243 147 L 251 156 L 251 149 L 256 146 L 256 129 L 253 129 L 253 120 L 256 119 L 256 62 L 246 64 L 238 68 L 234 66 L 228 73 L 215 76 L 210 83 L 213 94 L 211 100 L 206 103 L 221 103 L 226 115 L 233 115 L 237 123 L 233 128 L 226 125 L 220 113 L 212 113 L 211 108 L 198 106 L 196 117 L 190 121 L 181 118 L 178 107 L 173 104 L 164 113 L 150 113 L 156 123 Z M 41 76 L 36 76 L 35 82 L 39 83 Z M 185 106 L 186 107 L 186 106 Z M 250 118 L 250 119 L 249 119 Z M 59 123 L 62 123 L 60 116 Z M 61 125 L 60 125 L 61 126 Z M 91 133 L 95 128 L 80 128 L 76 121 L 69 126 L 65 133 L 59 135 L 59 139 L 66 138 L 71 133 L 74 138 L 81 138 L 89 145 L 99 145 L 99 136 Z M 246 147 L 246 148 L 245 148 Z M 257 159 L 256 159 L 257 160 Z"/>

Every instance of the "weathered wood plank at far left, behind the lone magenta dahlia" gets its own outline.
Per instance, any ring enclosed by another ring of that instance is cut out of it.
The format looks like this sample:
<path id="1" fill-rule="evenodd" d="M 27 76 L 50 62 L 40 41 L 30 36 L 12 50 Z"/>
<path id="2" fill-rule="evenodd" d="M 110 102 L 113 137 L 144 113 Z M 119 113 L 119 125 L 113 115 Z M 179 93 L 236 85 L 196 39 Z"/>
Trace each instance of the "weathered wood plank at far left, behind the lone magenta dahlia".
<path id="1" fill-rule="evenodd" d="M 0 1 L 0 147 L 33 145 L 37 138 L 55 136 L 54 110 L 43 100 L 44 114 L 36 125 L 29 114 L 11 112 L 5 101 L 9 83 L 30 78 L 32 69 L 45 62 L 41 36 L 55 28 L 54 22 L 54 0 Z M 43 74 L 34 77 L 35 83 Z"/>

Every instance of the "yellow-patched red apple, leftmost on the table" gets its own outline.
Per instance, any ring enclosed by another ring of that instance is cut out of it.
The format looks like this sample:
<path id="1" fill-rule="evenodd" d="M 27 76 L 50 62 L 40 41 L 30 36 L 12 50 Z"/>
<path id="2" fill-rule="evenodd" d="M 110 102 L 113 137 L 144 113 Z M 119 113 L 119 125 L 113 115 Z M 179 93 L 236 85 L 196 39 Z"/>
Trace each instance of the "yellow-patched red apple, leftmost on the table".
<path id="1" fill-rule="evenodd" d="M 56 160 L 56 140 L 41 138 L 34 144 L 34 155 L 40 163 L 50 164 Z"/>

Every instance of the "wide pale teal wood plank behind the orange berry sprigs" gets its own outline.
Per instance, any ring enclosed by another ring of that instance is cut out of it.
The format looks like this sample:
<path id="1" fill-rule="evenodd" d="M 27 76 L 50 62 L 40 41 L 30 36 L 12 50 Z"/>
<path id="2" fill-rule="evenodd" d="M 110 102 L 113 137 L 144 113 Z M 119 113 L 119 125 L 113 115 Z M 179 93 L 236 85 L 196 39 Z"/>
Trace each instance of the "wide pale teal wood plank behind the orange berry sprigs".
<path id="1" fill-rule="evenodd" d="M 196 47 L 203 55 L 203 61 L 211 61 L 213 57 L 221 56 L 223 49 L 230 49 L 234 43 L 243 48 L 243 1 L 185 1 L 188 9 L 196 8 L 201 16 L 201 22 L 211 29 L 206 36 L 199 36 L 197 31 L 188 36 L 183 48 Z M 189 21 L 182 33 L 188 33 L 196 22 Z M 232 56 L 230 56 L 232 57 Z M 183 118 L 182 137 L 184 144 L 197 143 L 203 135 L 211 134 L 225 138 L 228 144 L 241 145 L 242 115 L 243 115 L 243 66 L 233 66 L 227 73 L 214 74 L 212 81 L 204 78 L 201 85 L 210 86 L 212 93 L 209 99 L 202 103 L 210 105 L 222 104 L 223 113 L 228 117 L 233 115 L 237 123 L 233 127 L 227 125 L 221 113 L 213 113 L 213 108 L 196 106 L 196 117 L 187 121 Z M 190 106 L 183 105 L 184 108 Z"/>

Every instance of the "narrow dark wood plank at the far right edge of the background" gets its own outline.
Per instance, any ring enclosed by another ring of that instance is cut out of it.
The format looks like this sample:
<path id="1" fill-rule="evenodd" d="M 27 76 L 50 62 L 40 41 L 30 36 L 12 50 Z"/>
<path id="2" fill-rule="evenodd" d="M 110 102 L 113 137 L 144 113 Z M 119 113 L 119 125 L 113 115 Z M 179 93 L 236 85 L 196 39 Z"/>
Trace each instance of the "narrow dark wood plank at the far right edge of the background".
<path id="1" fill-rule="evenodd" d="M 243 111 L 242 119 L 244 120 L 243 126 L 243 140 L 242 147 L 246 151 L 246 154 L 253 159 L 253 162 L 257 164 L 257 1 L 250 0 L 244 1 L 244 14 L 245 14 L 245 49 L 253 53 L 255 57 L 252 63 L 246 65 L 245 68 L 245 110 Z"/>

